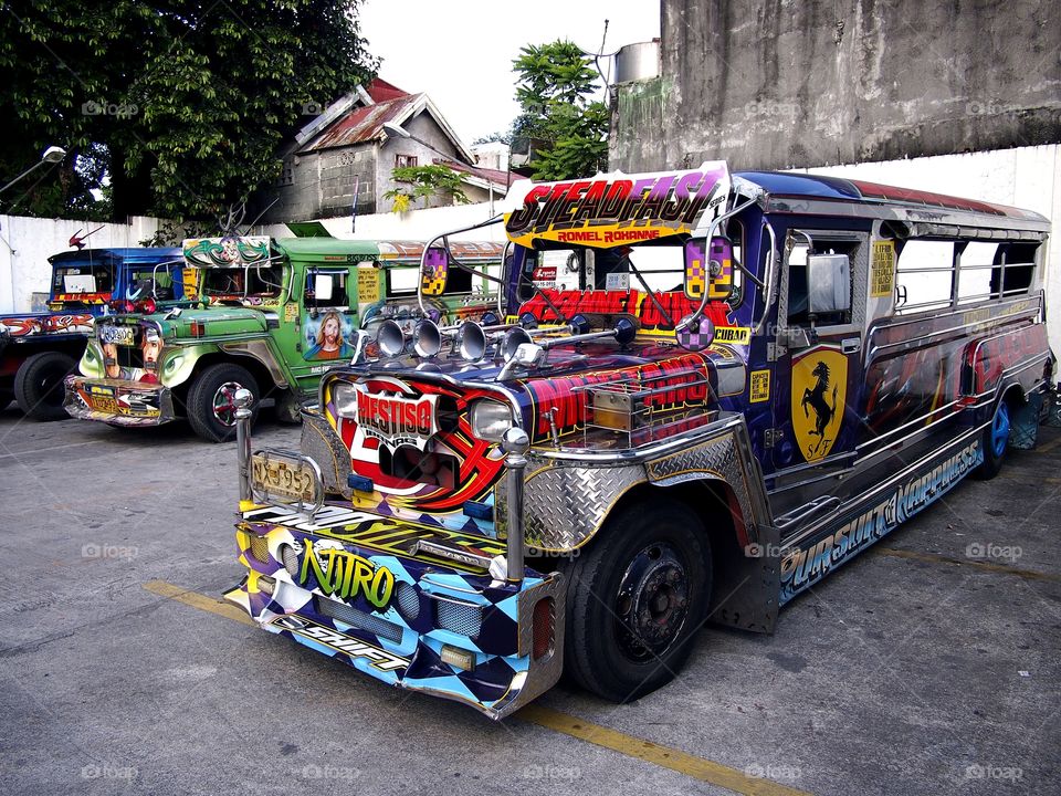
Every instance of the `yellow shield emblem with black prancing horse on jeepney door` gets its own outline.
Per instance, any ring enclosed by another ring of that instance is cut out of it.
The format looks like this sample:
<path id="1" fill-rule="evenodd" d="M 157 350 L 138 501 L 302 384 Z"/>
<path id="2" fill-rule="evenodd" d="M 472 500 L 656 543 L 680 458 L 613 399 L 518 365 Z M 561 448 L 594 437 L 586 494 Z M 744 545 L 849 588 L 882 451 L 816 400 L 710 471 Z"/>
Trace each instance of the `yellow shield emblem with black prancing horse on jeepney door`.
<path id="1" fill-rule="evenodd" d="M 848 358 L 836 346 L 792 357 L 792 431 L 803 459 L 829 455 L 843 422 Z"/>

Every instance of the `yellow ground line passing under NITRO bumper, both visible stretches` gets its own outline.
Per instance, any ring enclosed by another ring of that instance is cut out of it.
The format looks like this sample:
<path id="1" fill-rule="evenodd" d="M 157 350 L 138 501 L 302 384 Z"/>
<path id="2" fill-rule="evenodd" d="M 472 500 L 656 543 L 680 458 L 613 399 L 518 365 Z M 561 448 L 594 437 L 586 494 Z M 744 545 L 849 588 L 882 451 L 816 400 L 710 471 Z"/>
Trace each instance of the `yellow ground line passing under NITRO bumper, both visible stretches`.
<path id="1" fill-rule="evenodd" d="M 237 606 L 166 580 L 148 580 L 144 584 L 144 588 L 159 597 L 258 627 L 254 620 Z M 514 718 L 746 796 L 811 796 L 806 790 L 797 790 L 771 779 L 749 776 L 737 768 L 696 757 L 670 746 L 660 746 L 651 741 L 626 735 L 542 705 L 527 705 L 517 711 Z"/>

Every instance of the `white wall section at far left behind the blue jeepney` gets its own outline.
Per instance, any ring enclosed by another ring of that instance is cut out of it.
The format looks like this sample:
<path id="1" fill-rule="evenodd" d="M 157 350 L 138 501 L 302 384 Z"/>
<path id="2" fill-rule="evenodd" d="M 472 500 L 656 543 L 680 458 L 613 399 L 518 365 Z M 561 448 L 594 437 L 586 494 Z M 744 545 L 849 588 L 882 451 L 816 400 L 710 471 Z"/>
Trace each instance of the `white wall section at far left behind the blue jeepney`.
<path id="1" fill-rule="evenodd" d="M 125 224 L 99 224 L 0 216 L 0 313 L 30 312 L 33 294 L 48 293 L 52 275 L 48 258 L 70 251 L 72 235 L 83 235 L 102 227 L 85 241 L 86 245 L 94 249 L 138 247 L 162 223 L 166 222 L 147 217 L 134 217 Z"/>

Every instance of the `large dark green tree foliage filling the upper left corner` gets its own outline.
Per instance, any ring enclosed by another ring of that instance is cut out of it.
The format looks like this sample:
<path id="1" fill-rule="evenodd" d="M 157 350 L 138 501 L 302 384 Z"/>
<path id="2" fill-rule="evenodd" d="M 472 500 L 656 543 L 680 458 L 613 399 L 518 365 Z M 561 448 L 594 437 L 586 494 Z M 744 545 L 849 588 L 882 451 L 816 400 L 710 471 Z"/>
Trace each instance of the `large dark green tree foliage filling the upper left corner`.
<path id="1" fill-rule="evenodd" d="M 23 210 L 214 218 L 276 179 L 279 146 L 307 113 L 372 74 L 358 3 L 8 2 L 0 175 L 55 144 L 69 153 L 63 164 L 10 191 L 32 188 Z M 0 200 L 8 208 L 14 197 Z"/>

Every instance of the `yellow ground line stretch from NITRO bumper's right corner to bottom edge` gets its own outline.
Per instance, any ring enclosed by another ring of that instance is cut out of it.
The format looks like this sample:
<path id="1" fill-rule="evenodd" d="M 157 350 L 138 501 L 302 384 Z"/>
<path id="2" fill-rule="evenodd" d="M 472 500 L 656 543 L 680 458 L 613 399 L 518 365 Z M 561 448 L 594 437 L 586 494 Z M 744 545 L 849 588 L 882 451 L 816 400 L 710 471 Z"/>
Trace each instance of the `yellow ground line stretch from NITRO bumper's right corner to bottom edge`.
<path id="1" fill-rule="evenodd" d="M 749 776 L 738 768 L 731 768 L 670 746 L 660 746 L 651 741 L 609 730 L 542 705 L 529 704 L 516 711 L 513 718 L 577 737 L 595 746 L 609 748 L 628 757 L 637 757 L 661 768 L 670 768 L 733 793 L 747 796 L 810 796 L 806 790 L 797 790 L 773 779 Z"/>

